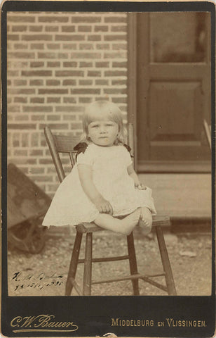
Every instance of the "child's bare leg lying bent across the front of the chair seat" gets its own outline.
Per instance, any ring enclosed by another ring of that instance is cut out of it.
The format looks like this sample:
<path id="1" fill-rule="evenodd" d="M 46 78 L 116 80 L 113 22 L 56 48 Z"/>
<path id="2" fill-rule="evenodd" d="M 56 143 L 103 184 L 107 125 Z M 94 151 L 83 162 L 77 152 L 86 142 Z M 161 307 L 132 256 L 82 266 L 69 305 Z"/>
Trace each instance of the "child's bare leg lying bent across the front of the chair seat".
<path id="1" fill-rule="evenodd" d="M 112 230 L 114 232 L 120 232 L 121 234 L 130 234 L 132 232 L 135 225 L 137 225 L 140 219 L 140 208 L 135 210 L 130 215 L 125 218 L 119 220 L 118 218 L 114 218 L 112 215 L 108 213 L 100 213 L 97 218 L 94 220 L 95 224 L 103 227 L 107 230 Z"/>

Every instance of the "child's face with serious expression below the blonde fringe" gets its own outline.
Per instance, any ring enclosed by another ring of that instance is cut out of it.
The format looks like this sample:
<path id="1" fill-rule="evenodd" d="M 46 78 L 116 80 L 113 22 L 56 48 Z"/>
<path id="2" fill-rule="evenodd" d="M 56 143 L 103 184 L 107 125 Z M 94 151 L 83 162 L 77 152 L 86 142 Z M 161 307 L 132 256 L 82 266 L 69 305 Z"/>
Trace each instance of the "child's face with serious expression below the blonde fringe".
<path id="1" fill-rule="evenodd" d="M 113 146 L 119 125 L 110 120 L 96 120 L 88 125 L 88 135 L 97 146 Z"/>

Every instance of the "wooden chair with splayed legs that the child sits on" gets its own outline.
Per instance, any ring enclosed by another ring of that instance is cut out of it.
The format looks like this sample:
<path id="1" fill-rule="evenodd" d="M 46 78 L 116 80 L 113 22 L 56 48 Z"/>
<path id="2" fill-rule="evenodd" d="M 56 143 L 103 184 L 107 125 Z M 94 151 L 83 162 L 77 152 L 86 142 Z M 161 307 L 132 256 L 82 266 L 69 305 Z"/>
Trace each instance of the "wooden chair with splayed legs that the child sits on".
<path id="1" fill-rule="evenodd" d="M 74 155 L 76 152 L 73 150 L 74 146 L 79 143 L 77 137 L 69 137 L 53 134 L 48 126 L 44 128 L 44 133 L 48 147 L 50 149 L 50 154 L 53 158 L 53 163 L 55 169 L 58 173 L 58 178 L 60 182 L 65 178 L 65 171 L 62 167 L 62 162 L 60 160 L 59 153 L 69 154 L 70 161 L 72 166 L 74 165 Z M 114 257 L 104 257 L 104 258 L 93 258 L 93 233 L 98 231 L 107 231 L 95 225 L 95 223 L 81 223 L 76 226 L 76 238 L 74 242 L 74 248 L 72 251 L 72 258 L 69 265 L 69 273 L 67 276 L 66 290 L 65 295 L 69 296 L 72 293 L 72 289 L 76 289 L 76 292 L 82 296 L 88 296 L 91 293 L 91 286 L 93 284 L 107 283 L 107 282 L 116 282 L 121 280 L 131 280 L 133 284 L 133 294 L 139 295 L 139 279 L 144 280 L 144 282 L 149 282 L 150 284 L 168 292 L 169 295 L 175 295 L 175 284 L 173 280 L 173 273 L 170 267 L 170 261 L 168 258 L 168 252 L 166 249 L 166 243 L 163 238 L 163 232 L 161 227 L 168 226 L 170 224 L 170 219 L 168 216 L 154 216 L 153 227 L 156 228 L 156 236 L 158 240 L 158 246 L 161 253 L 161 261 L 163 265 L 163 271 L 156 275 L 141 275 L 137 271 L 137 259 L 135 255 L 135 245 L 133 240 L 133 232 L 127 236 L 128 243 L 128 254 L 124 256 L 114 256 Z M 85 258 L 79 259 L 79 251 L 81 248 L 81 240 L 83 234 L 86 234 L 86 247 L 85 247 Z M 109 261 L 121 261 L 129 260 L 130 265 L 130 275 L 119 277 L 116 279 L 109 280 L 100 280 L 97 282 L 92 281 L 92 263 L 95 262 L 109 262 Z M 83 289 L 79 287 L 76 283 L 75 275 L 76 268 L 78 263 L 84 263 L 84 272 L 83 272 Z M 166 280 L 166 285 L 159 284 L 158 282 L 151 280 L 151 277 L 164 276 Z"/>

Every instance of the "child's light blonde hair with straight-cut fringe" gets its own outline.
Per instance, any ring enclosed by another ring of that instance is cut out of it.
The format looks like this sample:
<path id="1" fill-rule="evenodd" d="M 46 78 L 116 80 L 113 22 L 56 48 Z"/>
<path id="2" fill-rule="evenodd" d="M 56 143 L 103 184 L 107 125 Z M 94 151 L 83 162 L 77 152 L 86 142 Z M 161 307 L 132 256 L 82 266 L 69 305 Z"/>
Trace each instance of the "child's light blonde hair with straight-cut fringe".
<path id="1" fill-rule="evenodd" d="M 91 142 L 88 137 L 88 125 L 95 120 L 110 120 L 117 123 L 119 125 L 119 134 L 114 144 L 125 143 L 127 132 L 126 128 L 123 127 L 121 110 L 111 101 L 95 101 L 86 107 L 86 111 L 83 114 L 81 142 Z"/>

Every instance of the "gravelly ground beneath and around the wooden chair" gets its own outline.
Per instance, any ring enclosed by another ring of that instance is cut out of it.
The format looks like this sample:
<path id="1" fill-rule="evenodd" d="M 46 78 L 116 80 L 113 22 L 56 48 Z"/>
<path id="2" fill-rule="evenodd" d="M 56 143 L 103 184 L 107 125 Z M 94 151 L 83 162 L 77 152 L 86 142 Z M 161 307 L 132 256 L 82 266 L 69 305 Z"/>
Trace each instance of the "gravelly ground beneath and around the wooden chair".
<path id="1" fill-rule="evenodd" d="M 62 229 L 63 230 L 63 229 Z M 65 234 L 65 235 L 64 235 Z M 94 235 L 93 256 L 116 256 L 127 253 L 126 237 L 112 232 Z M 156 234 L 134 231 L 139 273 L 151 274 L 162 270 Z M 165 233 L 168 254 L 173 269 L 177 295 L 209 295 L 211 293 L 211 234 L 210 232 Z M 83 241 L 84 243 L 85 241 Z M 62 236 L 46 233 L 46 245 L 38 254 L 8 247 L 8 293 L 10 296 L 62 296 L 74 243 L 74 232 Z M 83 256 L 83 246 L 81 248 Z M 81 284 L 83 264 L 77 270 Z M 93 280 L 128 274 L 128 261 L 94 263 Z M 164 284 L 163 277 L 156 277 Z M 75 290 L 72 293 L 76 295 Z M 93 285 L 93 295 L 131 295 L 130 280 Z M 161 289 L 140 281 L 140 294 L 166 295 Z"/>

